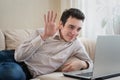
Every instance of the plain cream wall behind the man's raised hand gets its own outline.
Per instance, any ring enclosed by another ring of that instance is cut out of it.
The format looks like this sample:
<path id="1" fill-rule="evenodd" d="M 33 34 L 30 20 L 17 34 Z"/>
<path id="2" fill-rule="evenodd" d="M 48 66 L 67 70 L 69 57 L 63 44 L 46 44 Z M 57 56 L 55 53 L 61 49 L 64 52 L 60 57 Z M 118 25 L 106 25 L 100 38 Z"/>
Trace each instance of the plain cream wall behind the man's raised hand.
<path id="1" fill-rule="evenodd" d="M 43 27 L 48 10 L 58 13 L 58 21 L 60 0 L 0 0 L 0 29 Z"/>

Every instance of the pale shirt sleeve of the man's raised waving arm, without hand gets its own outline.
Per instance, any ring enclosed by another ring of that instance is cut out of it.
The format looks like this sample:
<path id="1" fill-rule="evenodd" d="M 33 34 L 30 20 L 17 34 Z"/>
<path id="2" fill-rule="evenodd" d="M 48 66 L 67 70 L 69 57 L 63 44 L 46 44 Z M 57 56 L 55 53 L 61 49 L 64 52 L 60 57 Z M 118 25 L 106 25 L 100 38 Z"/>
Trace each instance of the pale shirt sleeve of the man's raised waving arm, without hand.
<path id="1" fill-rule="evenodd" d="M 44 41 L 40 37 L 39 30 L 35 30 L 27 40 L 16 48 L 14 55 L 15 60 L 18 62 L 27 60 L 43 43 Z"/>

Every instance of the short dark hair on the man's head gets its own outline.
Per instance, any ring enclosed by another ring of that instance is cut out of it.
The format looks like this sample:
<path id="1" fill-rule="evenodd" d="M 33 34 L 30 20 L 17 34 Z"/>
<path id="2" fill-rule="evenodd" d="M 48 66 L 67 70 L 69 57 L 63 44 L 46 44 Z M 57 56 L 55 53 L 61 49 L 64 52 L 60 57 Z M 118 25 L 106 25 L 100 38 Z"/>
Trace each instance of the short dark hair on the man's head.
<path id="1" fill-rule="evenodd" d="M 62 16 L 60 18 L 60 21 L 62 21 L 63 26 L 65 25 L 65 23 L 69 17 L 73 17 L 73 18 L 76 18 L 76 19 L 79 19 L 82 21 L 84 21 L 84 19 L 85 19 L 83 12 L 80 11 L 79 9 L 76 9 L 76 8 L 66 9 L 62 13 Z"/>

